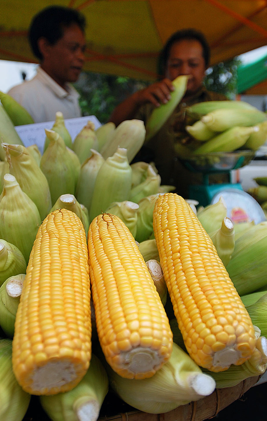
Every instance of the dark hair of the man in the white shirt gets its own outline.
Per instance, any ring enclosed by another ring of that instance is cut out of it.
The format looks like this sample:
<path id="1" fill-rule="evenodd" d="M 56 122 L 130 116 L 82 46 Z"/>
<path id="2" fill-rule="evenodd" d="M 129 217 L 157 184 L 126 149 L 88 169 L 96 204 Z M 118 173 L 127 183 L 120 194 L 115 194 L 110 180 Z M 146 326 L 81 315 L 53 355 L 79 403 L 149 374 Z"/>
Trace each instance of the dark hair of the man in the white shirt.
<path id="1" fill-rule="evenodd" d="M 43 56 L 37 41 L 44 37 L 53 45 L 63 36 L 64 28 L 77 24 L 85 31 L 85 17 L 75 9 L 61 6 L 51 6 L 43 9 L 32 19 L 29 27 L 29 43 L 34 55 L 42 60 Z"/>

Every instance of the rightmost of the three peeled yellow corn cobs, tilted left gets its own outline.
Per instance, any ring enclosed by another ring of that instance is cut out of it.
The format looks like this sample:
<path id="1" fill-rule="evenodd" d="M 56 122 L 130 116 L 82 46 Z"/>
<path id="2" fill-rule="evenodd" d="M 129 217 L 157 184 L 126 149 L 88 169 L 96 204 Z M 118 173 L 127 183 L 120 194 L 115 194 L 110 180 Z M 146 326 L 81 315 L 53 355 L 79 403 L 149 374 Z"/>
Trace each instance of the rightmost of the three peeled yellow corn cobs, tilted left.
<path id="1" fill-rule="evenodd" d="M 211 238 L 174 193 L 158 197 L 153 218 L 160 264 L 190 356 L 215 372 L 242 364 L 254 352 L 254 328 Z"/>

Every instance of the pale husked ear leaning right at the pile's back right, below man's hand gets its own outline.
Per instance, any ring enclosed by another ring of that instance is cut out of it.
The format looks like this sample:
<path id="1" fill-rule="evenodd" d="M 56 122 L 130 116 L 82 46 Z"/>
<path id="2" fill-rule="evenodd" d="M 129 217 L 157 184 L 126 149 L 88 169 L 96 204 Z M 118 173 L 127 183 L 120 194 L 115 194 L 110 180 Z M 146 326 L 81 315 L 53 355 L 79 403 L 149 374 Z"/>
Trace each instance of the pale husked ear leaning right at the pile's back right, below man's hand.
<path id="1" fill-rule="evenodd" d="M 136 156 L 144 144 L 146 130 L 142 120 L 124 120 L 120 123 L 112 135 L 100 150 L 104 159 L 112 156 L 118 147 L 127 149 L 129 163 Z"/>

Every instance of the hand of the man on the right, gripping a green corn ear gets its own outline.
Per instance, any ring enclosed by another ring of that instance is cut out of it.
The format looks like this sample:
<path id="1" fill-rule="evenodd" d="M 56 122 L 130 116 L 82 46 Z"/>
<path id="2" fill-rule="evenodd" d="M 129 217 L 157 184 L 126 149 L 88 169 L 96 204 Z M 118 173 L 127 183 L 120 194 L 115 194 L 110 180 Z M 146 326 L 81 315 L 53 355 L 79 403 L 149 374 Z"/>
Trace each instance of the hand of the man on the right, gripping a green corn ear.
<path id="1" fill-rule="evenodd" d="M 171 99 L 171 91 L 174 91 L 171 80 L 163 79 L 136 92 L 136 102 L 139 105 L 151 102 L 155 107 L 159 107 L 160 104 L 166 104 Z"/>

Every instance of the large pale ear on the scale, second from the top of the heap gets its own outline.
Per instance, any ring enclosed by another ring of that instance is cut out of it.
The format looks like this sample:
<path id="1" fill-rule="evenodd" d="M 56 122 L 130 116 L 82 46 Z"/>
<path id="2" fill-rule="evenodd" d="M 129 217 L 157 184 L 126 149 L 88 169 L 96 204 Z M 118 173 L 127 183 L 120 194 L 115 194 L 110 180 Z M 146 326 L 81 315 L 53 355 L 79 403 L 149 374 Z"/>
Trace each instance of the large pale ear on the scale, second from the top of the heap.
<path id="1" fill-rule="evenodd" d="M 266 119 L 266 113 L 259 109 L 216 109 L 201 117 L 203 123 L 218 132 L 236 126 L 254 126 Z"/>

